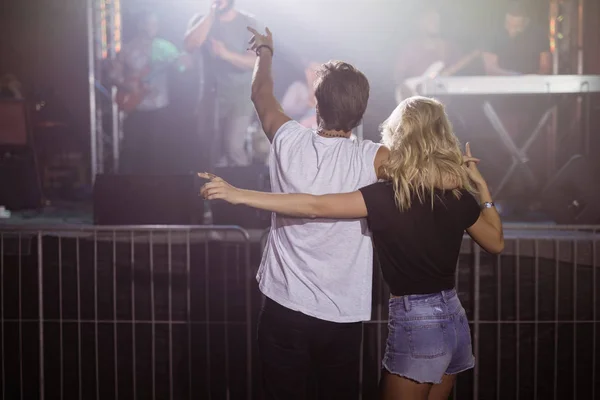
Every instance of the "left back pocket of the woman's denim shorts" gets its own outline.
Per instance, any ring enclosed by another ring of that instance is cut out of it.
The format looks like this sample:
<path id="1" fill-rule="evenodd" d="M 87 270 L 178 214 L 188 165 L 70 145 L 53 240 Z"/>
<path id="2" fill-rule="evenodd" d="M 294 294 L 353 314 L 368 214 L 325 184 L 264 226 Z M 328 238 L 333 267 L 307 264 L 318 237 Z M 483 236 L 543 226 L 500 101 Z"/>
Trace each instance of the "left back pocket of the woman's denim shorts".
<path id="1" fill-rule="evenodd" d="M 437 358 L 446 355 L 446 324 L 423 323 L 407 327 L 412 358 Z"/>

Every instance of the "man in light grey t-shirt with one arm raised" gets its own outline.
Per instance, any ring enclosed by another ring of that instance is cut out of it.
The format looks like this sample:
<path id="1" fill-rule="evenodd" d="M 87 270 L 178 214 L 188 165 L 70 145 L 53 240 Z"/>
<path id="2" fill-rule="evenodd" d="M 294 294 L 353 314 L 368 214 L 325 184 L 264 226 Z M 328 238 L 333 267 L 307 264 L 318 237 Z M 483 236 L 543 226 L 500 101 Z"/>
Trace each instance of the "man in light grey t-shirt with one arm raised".
<path id="1" fill-rule="evenodd" d="M 369 82 L 352 65 L 322 65 L 315 82 L 318 129 L 291 120 L 273 94 L 273 38 L 248 28 L 256 52 L 252 101 L 272 142 L 273 192 L 351 192 L 378 180 L 388 150 L 352 141 Z M 344 204 L 340 204 L 344 207 Z M 267 399 L 353 399 L 359 392 L 361 322 L 371 317 L 373 247 L 364 219 L 273 214 L 257 275 L 265 295 L 258 346 Z M 318 395 L 309 393 L 316 378 Z"/>

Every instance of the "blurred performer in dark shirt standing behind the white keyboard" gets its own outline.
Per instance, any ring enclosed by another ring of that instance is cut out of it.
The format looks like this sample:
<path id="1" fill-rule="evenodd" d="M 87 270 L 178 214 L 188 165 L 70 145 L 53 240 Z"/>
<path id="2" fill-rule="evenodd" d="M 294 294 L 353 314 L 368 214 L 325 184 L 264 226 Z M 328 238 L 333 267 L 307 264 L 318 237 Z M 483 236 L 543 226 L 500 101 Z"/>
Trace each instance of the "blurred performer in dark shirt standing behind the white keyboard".
<path id="1" fill-rule="evenodd" d="M 504 29 L 483 54 L 488 75 L 549 74 L 552 59 L 548 32 L 534 25 L 521 3 L 510 3 Z"/>

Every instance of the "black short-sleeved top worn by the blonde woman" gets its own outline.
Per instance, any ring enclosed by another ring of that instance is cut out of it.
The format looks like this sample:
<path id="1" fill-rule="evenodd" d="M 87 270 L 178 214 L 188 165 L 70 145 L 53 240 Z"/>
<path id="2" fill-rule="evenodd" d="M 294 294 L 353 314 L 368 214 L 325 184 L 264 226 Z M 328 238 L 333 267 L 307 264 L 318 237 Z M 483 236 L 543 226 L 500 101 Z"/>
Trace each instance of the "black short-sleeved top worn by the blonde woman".
<path id="1" fill-rule="evenodd" d="M 360 189 L 383 278 L 394 296 L 429 294 L 454 287 L 456 263 L 465 229 L 479 218 L 479 204 L 467 191 L 436 191 L 433 209 L 428 197 L 414 199 L 400 212 L 394 188 L 380 182 Z"/>

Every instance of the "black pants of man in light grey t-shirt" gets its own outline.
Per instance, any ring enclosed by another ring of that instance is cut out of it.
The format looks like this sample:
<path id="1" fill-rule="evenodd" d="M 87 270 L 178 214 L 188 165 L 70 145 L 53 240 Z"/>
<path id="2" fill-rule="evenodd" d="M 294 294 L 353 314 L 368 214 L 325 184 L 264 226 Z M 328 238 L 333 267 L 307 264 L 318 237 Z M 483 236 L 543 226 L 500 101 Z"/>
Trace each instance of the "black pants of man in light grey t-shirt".
<path id="1" fill-rule="evenodd" d="M 258 349 L 267 400 L 357 399 L 362 324 L 309 317 L 265 299 Z"/>

